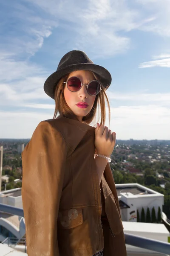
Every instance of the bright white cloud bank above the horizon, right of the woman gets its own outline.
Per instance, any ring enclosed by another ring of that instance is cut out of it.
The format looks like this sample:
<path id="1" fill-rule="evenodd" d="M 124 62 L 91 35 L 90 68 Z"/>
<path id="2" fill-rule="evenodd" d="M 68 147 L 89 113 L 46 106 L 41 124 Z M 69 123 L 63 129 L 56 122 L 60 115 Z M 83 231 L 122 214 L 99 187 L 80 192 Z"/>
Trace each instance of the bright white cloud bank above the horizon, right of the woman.
<path id="1" fill-rule="evenodd" d="M 112 108 L 110 128 L 118 140 L 170 140 L 170 108 L 157 105 Z"/>

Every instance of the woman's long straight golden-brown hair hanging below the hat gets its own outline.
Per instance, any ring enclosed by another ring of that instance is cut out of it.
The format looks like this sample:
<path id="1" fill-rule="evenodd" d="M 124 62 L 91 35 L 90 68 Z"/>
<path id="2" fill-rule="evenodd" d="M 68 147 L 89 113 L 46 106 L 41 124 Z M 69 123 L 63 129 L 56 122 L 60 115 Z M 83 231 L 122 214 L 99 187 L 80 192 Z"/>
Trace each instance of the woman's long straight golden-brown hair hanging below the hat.
<path id="1" fill-rule="evenodd" d="M 100 119 L 100 125 L 105 125 L 105 118 L 106 118 L 106 109 L 105 109 L 105 99 L 108 104 L 108 114 L 109 114 L 109 125 L 110 125 L 110 119 L 111 119 L 111 111 L 110 111 L 110 105 L 108 97 L 105 93 L 105 87 L 103 86 L 101 79 L 98 75 L 96 75 L 94 72 L 92 72 L 95 79 L 100 82 L 102 86 L 102 90 L 96 95 L 96 99 L 94 101 L 93 108 L 88 113 L 87 116 L 83 116 L 82 122 L 86 124 L 90 124 L 94 117 L 96 116 L 96 108 L 99 104 L 100 111 L 99 115 L 101 113 L 101 119 Z M 71 118 L 71 116 L 74 116 L 77 118 L 77 116 L 74 114 L 74 112 L 71 110 L 71 108 L 68 107 L 65 98 L 64 98 L 64 86 L 63 82 L 66 82 L 68 79 L 69 73 L 65 76 L 63 76 L 59 82 L 57 83 L 57 86 L 55 88 L 55 111 L 54 111 L 54 119 L 57 117 L 57 114 L 59 113 L 60 116 L 65 116 L 68 118 Z M 78 119 L 77 119 L 78 120 Z"/>

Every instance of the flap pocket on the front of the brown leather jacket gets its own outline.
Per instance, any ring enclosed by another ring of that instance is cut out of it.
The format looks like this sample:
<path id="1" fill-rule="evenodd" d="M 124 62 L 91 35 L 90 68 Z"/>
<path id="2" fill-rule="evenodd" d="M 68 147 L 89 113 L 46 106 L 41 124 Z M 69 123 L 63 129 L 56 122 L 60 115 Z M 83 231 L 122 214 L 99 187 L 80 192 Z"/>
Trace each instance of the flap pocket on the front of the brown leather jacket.
<path id="1" fill-rule="evenodd" d="M 57 223 L 60 229 L 70 229 L 81 225 L 83 223 L 82 209 L 59 210 Z"/>

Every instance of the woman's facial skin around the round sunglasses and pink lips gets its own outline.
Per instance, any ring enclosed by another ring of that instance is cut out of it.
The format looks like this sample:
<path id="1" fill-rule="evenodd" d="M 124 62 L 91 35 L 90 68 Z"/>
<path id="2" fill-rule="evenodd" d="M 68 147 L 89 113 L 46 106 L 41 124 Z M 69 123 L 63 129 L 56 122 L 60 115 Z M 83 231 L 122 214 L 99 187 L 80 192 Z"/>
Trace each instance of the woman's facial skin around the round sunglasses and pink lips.
<path id="1" fill-rule="evenodd" d="M 87 114 L 91 111 L 94 105 L 94 101 L 96 96 L 92 96 L 88 94 L 86 87 L 84 84 L 88 84 L 92 80 L 96 80 L 94 78 L 93 73 L 88 70 L 77 70 L 69 74 L 68 79 L 71 76 L 77 76 L 82 81 L 82 87 L 78 92 L 71 92 L 68 90 L 67 85 L 64 87 L 64 97 L 67 105 L 74 114 L 77 116 L 80 122 L 82 122 L 83 116 L 87 116 Z M 80 102 L 86 102 L 88 106 L 86 108 L 81 108 L 80 105 L 77 105 Z"/>

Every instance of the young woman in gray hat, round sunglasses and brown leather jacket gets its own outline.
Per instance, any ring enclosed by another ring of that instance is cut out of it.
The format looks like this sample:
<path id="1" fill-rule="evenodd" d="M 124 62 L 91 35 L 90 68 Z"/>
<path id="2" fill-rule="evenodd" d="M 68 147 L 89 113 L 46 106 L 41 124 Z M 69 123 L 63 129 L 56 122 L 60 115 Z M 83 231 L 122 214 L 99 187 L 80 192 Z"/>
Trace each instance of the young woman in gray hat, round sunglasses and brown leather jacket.
<path id="1" fill-rule="evenodd" d="M 28 256 L 126 256 L 109 165 L 116 133 L 104 126 L 110 84 L 108 70 L 78 50 L 45 81 L 54 118 L 39 123 L 22 153 Z"/>

